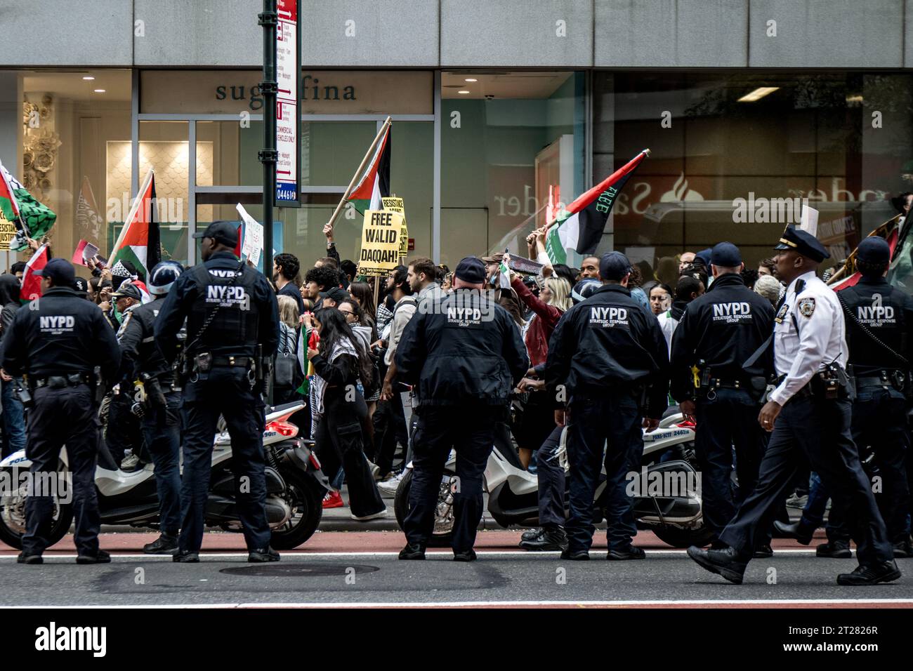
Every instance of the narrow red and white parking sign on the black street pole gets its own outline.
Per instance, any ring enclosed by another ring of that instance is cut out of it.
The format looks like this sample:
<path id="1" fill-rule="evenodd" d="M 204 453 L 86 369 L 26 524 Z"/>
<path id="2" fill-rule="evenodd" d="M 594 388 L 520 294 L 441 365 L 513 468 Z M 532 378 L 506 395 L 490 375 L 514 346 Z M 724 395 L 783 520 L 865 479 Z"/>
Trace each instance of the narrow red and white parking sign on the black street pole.
<path id="1" fill-rule="evenodd" d="M 298 0 L 278 0 L 276 30 L 276 204 L 299 202 Z"/>

